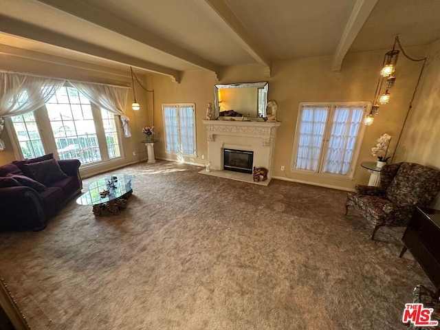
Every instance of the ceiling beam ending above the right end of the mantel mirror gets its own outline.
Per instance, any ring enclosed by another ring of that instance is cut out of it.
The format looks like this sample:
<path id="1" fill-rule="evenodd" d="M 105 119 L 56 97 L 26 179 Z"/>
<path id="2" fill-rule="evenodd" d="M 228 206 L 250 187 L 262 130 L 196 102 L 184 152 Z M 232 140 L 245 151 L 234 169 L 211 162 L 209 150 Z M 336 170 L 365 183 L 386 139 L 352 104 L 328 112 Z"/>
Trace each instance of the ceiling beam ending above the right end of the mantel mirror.
<path id="1" fill-rule="evenodd" d="M 256 43 L 254 37 L 246 30 L 245 26 L 237 19 L 234 12 L 224 0 L 192 0 L 203 10 L 208 17 L 217 23 L 232 39 L 238 43 L 245 52 L 250 54 L 257 63 L 267 67 L 267 78 L 270 78 L 272 61 Z"/>

